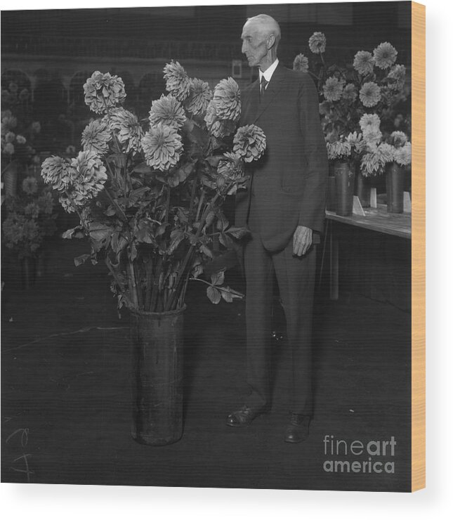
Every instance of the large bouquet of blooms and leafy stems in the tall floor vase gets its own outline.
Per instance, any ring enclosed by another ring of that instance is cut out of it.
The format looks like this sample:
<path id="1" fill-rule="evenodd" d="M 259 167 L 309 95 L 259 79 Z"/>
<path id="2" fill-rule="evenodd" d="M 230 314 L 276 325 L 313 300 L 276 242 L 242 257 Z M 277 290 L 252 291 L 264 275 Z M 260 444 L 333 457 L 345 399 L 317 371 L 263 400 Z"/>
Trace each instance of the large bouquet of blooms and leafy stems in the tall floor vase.
<path id="1" fill-rule="evenodd" d="M 72 159 L 48 157 L 41 170 L 80 224 L 65 238 L 88 237 L 91 253 L 75 259 L 105 261 L 119 307 L 164 312 L 182 308 L 190 279 L 246 231 L 230 226 L 227 195 L 244 188 L 244 162 L 261 157 L 257 126 L 237 129 L 239 87 L 223 79 L 190 78 L 178 62 L 164 67 L 168 95 L 152 101 L 138 121 L 122 108 L 122 79 L 94 72 L 85 101 L 98 117 L 84 129 L 83 150 Z M 214 303 L 240 294 L 223 271 L 202 280 Z"/>

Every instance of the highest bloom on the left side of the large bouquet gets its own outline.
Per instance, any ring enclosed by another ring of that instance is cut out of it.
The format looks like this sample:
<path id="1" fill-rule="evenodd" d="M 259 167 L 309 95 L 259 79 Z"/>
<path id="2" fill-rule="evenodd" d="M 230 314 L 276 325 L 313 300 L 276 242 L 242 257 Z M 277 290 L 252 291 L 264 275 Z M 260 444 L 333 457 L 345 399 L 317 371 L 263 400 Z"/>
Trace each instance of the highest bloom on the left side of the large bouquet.
<path id="1" fill-rule="evenodd" d="M 85 103 L 92 112 L 103 114 L 107 108 L 113 108 L 126 98 L 123 80 L 111 76 L 110 72 L 103 74 L 96 70 L 84 84 Z"/>

